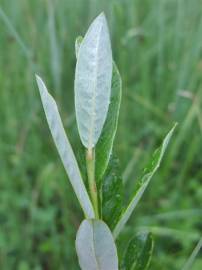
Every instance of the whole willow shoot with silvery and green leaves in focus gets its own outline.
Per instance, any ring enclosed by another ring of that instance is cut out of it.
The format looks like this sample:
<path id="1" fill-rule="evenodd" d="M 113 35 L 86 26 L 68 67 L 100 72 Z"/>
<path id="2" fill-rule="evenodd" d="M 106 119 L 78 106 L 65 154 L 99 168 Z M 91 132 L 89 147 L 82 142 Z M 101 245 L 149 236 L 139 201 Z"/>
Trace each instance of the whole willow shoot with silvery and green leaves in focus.
<path id="1" fill-rule="evenodd" d="M 122 177 L 112 151 L 122 83 L 103 13 L 92 22 L 84 38 L 77 38 L 75 51 L 75 111 L 85 149 L 87 181 L 66 136 L 55 100 L 37 75 L 36 80 L 53 140 L 85 217 L 76 236 L 79 265 L 82 270 L 145 270 L 153 249 L 151 233 L 133 236 L 121 261 L 116 239 L 158 169 L 175 126 L 154 152 L 125 206 Z"/>

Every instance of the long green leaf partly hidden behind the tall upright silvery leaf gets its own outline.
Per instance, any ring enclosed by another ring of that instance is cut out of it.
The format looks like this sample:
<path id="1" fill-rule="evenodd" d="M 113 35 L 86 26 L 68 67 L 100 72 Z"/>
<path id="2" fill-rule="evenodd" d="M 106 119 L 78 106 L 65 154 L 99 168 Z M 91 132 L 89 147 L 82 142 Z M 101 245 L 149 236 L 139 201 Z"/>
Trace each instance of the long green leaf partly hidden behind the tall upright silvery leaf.
<path id="1" fill-rule="evenodd" d="M 107 165 L 109 163 L 110 155 L 114 138 L 117 131 L 118 117 L 121 103 L 122 82 L 116 64 L 113 63 L 112 74 L 112 89 L 110 105 L 101 136 L 95 148 L 95 177 L 96 182 L 100 182 Z"/>

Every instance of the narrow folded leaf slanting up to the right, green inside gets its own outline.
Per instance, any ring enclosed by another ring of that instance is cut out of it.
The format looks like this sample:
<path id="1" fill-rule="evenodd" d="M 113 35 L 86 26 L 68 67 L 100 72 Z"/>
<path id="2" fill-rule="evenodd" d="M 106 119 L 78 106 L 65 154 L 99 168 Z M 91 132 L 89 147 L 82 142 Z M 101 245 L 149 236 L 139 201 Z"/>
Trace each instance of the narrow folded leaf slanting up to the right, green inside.
<path id="1" fill-rule="evenodd" d="M 119 235 L 119 233 L 121 232 L 121 230 L 123 229 L 124 225 L 126 224 L 128 219 L 130 218 L 133 210 L 135 209 L 136 205 L 138 204 L 139 200 L 141 199 L 141 197 L 142 197 L 145 189 L 147 188 L 152 176 L 159 168 L 159 166 L 161 164 L 161 160 L 162 160 L 163 155 L 166 151 L 168 143 L 173 135 L 175 127 L 176 127 L 176 124 L 169 131 L 169 133 L 166 135 L 161 147 L 158 148 L 154 152 L 154 155 L 153 155 L 151 161 L 149 162 L 148 166 L 144 169 L 144 174 L 140 178 L 140 180 L 138 181 L 139 187 L 136 190 L 135 194 L 133 195 L 132 200 L 130 201 L 128 207 L 125 209 L 125 211 L 121 215 L 121 217 L 120 217 L 120 219 L 119 219 L 119 221 L 118 221 L 118 223 L 113 231 L 114 238 L 116 238 Z"/>

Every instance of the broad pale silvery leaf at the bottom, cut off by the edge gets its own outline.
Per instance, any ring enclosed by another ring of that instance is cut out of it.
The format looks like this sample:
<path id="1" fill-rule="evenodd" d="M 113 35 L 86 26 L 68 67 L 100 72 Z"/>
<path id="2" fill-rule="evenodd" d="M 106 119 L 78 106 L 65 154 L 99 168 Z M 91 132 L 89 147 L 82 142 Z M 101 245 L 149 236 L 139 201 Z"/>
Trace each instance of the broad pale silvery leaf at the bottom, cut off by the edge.
<path id="1" fill-rule="evenodd" d="M 76 251 L 82 270 L 118 270 L 113 236 L 101 220 L 84 220 L 77 232 Z"/>

